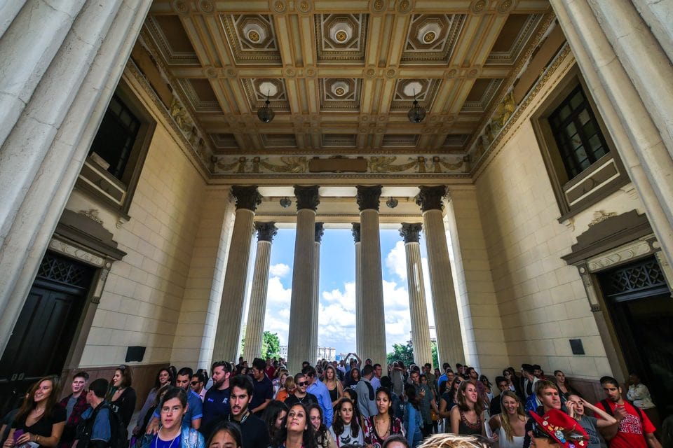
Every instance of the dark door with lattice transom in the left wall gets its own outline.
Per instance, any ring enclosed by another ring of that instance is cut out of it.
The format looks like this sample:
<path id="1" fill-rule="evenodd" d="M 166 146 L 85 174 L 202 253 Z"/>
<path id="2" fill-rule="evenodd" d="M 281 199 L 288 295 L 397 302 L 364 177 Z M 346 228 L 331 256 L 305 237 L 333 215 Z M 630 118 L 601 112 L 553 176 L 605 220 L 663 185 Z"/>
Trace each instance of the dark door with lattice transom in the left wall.
<path id="1" fill-rule="evenodd" d="M 0 410 L 18 406 L 35 381 L 60 374 L 95 268 L 47 253 L 0 359 Z"/>

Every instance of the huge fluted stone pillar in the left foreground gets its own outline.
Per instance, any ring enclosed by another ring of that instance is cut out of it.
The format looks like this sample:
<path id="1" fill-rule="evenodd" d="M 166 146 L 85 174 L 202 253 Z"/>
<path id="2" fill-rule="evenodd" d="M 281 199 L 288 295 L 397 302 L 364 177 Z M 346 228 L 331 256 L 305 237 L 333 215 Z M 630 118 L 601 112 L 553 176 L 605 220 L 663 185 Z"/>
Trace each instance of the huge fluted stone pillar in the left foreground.
<path id="1" fill-rule="evenodd" d="M 151 5 L 9 3 L 0 6 L 0 352 Z"/>

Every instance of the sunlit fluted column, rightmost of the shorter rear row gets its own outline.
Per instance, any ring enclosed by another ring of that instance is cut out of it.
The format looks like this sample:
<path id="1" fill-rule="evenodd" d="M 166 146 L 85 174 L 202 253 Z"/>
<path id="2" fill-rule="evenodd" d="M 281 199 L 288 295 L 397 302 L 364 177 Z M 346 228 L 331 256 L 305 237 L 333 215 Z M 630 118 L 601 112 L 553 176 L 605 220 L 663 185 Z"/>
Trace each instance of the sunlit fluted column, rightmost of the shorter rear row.
<path id="1" fill-rule="evenodd" d="M 423 267 L 421 265 L 421 245 L 419 233 L 421 223 L 402 223 L 400 237 L 405 240 L 407 255 L 407 286 L 409 288 L 409 317 L 412 321 L 412 344 L 414 362 L 417 365 L 433 363 L 433 349 L 430 346 L 430 324 L 426 289 L 423 286 Z"/>

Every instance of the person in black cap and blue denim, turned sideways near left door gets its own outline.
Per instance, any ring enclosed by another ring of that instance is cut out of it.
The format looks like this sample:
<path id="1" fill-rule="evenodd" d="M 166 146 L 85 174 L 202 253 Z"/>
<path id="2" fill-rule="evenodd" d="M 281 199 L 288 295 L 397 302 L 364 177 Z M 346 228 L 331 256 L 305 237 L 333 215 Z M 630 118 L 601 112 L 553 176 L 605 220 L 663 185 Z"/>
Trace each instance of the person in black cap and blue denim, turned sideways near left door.
<path id="1" fill-rule="evenodd" d="M 84 434 L 77 441 L 77 448 L 107 448 L 112 430 L 110 428 L 110 409 L 105 405 L 105 394 L 109 384 L 107 379 L 92 381 L 86 393 L 86 402 L 90 407 L 82 414 L 86 420 Z"/>

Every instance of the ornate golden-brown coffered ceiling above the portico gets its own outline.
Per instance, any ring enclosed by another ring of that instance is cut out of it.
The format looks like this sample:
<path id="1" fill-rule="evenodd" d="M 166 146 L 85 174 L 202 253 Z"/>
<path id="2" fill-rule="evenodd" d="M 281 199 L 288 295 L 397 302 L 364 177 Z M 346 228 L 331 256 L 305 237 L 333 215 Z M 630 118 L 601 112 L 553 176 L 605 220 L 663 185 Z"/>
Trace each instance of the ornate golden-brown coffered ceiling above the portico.
<path id="1" fill-rule="evenodd" d="M 343 162 L 361 157 L 363 173 L 465 176 L 552 18 L 547 0 L 155 0 L 141 39 L 213 174 L 317 173 L 314 157 L 358 172 Z"/>

